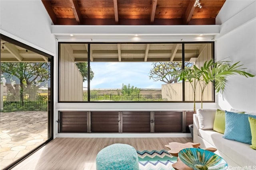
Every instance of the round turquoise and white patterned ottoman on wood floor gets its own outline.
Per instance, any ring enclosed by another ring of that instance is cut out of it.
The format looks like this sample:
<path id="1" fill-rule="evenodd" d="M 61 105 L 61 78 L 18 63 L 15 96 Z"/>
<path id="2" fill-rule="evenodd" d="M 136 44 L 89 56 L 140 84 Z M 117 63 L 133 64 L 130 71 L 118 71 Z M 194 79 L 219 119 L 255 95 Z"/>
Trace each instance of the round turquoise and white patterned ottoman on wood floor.
<path id="1" fill-rule="evenodd" d="M 97 170 L 139 170 L 138 155 L 134 147 L 116 143 L 98 152 Z"/>

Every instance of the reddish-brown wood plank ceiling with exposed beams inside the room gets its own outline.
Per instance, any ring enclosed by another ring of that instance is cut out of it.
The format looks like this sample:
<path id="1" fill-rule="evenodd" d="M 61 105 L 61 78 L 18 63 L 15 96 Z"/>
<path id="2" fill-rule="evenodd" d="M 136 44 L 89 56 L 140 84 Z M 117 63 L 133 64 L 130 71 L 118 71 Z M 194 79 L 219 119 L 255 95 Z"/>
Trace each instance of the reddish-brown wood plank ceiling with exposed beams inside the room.
<path id="1" fill-rule="evenodd" d="M 214 25 L 225 0 L 42 0 L 54 25 Z"/>

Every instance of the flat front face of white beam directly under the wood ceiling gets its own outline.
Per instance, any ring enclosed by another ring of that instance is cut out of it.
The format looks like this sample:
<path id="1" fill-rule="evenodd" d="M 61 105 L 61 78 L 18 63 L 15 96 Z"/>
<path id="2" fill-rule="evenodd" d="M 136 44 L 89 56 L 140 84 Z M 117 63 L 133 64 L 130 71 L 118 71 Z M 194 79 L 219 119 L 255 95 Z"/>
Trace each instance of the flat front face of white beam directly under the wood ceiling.
<path id="1" fill-rule="evenodd" d="M 216 35 L 220 25 L 51 25 L 54 35 Z"/>

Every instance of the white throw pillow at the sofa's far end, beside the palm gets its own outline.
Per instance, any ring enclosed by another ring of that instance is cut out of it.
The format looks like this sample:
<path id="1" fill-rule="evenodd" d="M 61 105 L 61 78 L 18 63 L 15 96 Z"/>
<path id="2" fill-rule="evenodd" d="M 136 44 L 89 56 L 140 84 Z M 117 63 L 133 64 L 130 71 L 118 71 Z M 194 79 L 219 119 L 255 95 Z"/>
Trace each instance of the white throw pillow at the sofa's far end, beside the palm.
<path id="1" fill-rule="evenodd" d="M 197 109 L 198 123 L 200 129 L 213 129 L 217 109 Z"/>

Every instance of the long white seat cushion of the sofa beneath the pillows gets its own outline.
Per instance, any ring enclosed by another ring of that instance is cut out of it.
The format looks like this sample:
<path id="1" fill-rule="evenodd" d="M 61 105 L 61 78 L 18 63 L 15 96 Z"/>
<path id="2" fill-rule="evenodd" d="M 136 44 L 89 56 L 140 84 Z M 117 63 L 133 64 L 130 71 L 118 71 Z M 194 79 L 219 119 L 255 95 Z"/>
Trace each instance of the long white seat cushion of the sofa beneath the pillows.
<path id="1" fill-rule="evenodd" d="M 256 166 L 255 150 L 251 149 L 249 144 L 224 139 L 222 137 L 223 134 L 208 129 L 199 129 L 198 135 L 218 149 L 219 152 L 223 152 L 238 165 Z"/>

